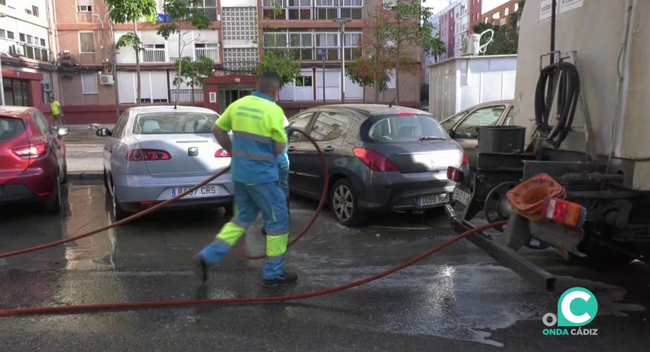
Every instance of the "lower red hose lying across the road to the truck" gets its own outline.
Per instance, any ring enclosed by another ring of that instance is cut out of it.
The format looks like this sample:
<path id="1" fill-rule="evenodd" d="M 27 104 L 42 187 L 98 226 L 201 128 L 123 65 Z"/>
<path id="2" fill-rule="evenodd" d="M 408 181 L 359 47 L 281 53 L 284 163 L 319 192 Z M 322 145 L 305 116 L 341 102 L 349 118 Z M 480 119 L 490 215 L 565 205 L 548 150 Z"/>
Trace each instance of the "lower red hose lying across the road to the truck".
<path id="1" fill-rule="evenodd" d="M 282 301 L 294 301 L 296 299 L 312 298 L 316 296 L 323 296 L 326 294 L 334 294 L 339 291 L 344 291 L 346 289 L 351 289 L 352 287 L 358 287 L 368 282 L 373 282 L 377 279 L 381 279 L 387 275 L 390 275 L 394 272 L 402 270 L 410 265 L 418 263 L 418 261 L 431 256 L 438 251 L 441 251 L 446 246 L 454 244 L 454 242 L 468 237 L 470 234 L 475 234 L 483 230 L 487 230 L 492 227 L 498 227 L 501 225 L 506 225 L 507 221 L 493 222 L 492 224 L 484 225 L 481 227 L 476 227 L 474 229 L 465 231 L 461 234 L 458 234 L 450 239 L 447 239 L 442 244 L 439 244 L 432 249 L 425 251 L 424 253 L 419 254 L 406 262 L 396 265 L 393 268 L 378 272 L 375 275 L 370 277 L 365 277 L 364 279 L 359 279 L 354 282 L 349 282 L 347 284 L 342 284 L 335 287 L 330 287 L 327 289 L 320 289 L 316 291 L 303 292 L 301 294 L 290 294 L 286 296 L 267 296 L 267 297 L 249 297 L 249 298 L 212 298 L 212 299 L 183 299 L 183 300 L 170 300 L 170 301 L 149 301 L 149 302 L 123 302 L 123 303 L 100 303 L 100 304 L 86 304 L 80 306 L 56 306 L 56 307 L 35 307 L 35 308 L 18 308 L 18 309 L 6 309 L 0 310 L 0 316 L 9 316 L 9 315 L 28 315 L 28 314 L 48 314 L 48 313 L 75 313 L 75 312 L 89 312 L 89 311 L 106 311 L 106 310 L 127 310 L 135 308 L 154 308 L 154 307 L 170 307 L 170 306 L 198 306 L 204 304 L 233 304 L 233 303 L 265 303 L 265 302 L 282 302 Z"/>

